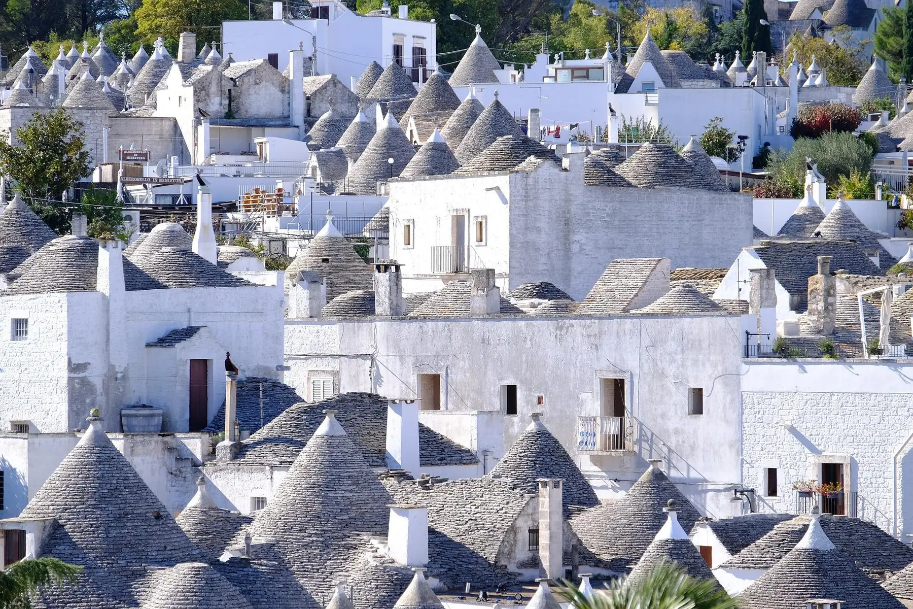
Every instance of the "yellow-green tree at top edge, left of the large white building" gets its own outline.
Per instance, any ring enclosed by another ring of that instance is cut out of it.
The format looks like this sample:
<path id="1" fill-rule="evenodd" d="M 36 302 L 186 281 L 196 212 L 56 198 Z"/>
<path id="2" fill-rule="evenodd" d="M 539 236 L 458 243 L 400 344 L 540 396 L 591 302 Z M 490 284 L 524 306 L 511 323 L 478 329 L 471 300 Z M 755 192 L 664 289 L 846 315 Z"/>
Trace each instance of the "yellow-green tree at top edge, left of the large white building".
<path id="1" fill-rule="evenodd" d="M 217 37 L 223 21 L 247 19 L 247 4 L 241 0 L 145 0 L 135 16 L 136 35 L 142 42 L 152 44 L 163 36 L 168 48 L 176 50 L 181 32 L 194 32 L 199 51 L 206 41 Z"/>

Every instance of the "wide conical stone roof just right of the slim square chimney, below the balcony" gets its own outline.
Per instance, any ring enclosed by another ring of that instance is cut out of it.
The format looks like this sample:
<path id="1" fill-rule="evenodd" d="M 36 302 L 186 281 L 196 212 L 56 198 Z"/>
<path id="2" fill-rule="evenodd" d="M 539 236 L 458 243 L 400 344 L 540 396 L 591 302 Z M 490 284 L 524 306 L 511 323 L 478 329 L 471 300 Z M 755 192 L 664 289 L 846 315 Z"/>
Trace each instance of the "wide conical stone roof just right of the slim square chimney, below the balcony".
<path id="1" fill-rule="evenodd" d="M 698 510 L 656 463 L 647 468 L 622 499 L 587 509 L 571 520 L 571 527 L 583 545 L 603 560 L 614 561 L 619 568 L 634 564 L 644 555 L 656 533 L 666 524 L 662 509 L 669 499 L 676 502 L 682 529 L 691 530 L 700 518 Z"/>

